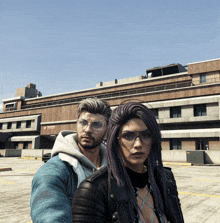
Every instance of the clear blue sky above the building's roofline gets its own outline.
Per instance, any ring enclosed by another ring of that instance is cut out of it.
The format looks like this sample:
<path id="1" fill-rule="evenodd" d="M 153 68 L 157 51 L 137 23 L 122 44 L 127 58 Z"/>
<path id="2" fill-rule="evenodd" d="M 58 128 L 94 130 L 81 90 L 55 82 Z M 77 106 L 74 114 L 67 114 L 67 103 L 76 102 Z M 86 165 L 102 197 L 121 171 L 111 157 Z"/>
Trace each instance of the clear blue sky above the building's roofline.
<path id="1" fill-rule="evenodd" d="M 219 0 L 0 0 L 2 99 L 220 58 Z"/>

